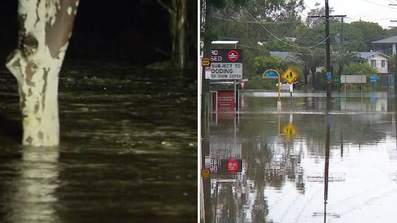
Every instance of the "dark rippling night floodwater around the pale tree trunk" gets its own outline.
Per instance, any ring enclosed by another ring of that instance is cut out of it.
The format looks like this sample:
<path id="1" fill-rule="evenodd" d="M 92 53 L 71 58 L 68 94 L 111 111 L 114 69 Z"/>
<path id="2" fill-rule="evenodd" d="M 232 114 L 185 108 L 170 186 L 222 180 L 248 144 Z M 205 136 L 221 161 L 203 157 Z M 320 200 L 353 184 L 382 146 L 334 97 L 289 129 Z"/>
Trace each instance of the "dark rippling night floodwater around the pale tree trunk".
<path id="1" fill-rule="evenodd" d="M 0 222 L 197 221 L 196 71 L 65 66 L 61 145 L 22 148 L 16 82 L 0 74 Z"/>

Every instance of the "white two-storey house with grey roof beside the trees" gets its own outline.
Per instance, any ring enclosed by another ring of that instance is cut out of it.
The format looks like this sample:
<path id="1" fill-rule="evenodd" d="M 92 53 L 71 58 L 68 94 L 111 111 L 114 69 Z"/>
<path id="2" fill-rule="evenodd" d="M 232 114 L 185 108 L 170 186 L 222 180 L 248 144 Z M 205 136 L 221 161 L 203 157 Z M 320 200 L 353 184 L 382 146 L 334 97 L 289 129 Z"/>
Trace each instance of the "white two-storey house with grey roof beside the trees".
<path id="1" fill-rule="evenodd" d="M 388 58 L 381 52 L 357 52 L 357 56 L 363 59 L 363 62 L 369 63 L 378 70 L 378 76 L 388 74 Z"/>

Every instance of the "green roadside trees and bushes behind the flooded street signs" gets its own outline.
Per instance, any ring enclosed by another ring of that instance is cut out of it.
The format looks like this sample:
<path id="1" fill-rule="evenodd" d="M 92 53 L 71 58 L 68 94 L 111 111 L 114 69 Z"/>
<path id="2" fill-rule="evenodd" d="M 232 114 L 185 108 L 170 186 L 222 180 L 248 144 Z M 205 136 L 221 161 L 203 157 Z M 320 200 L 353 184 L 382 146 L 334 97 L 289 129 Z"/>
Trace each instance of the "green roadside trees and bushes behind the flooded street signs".
<path id="1" fill-rule="evenodd" d="M 302 20 L 305 4 L 300 0 L 201 0 L 201 52 L 209 40 L 238 40 L 237 47 L 244 49 L 245 89 L 276 89 L 277 80 L 262 79 L 266 69 L 280 74 L 292 66 L 299 73 L 298 81 L 307 82 L 313 73 L 314 90 L 326 89 L 325 24 L 323 18 Z M 330 8 L 330 14 L 333 9 Z M 320 3 L 308 15 L 324 15 Z M 370 88 L 369 77 L 377 74 L 357 52 L 374 50 L 371 42 L 397 35 L 397 28 L 383 29 L 378 23 L 359 21 L 342 23 L 340 18 L 330 20 L 331 70 L 333 76 L 364 74 Z M 390 56 L 389 46 L 376 46 L 375 51 Z M 388 48 L 389 47 L 389 48 Z M 221 47 L 218 47 L 221 48 Z M 272 56 L 271 52 L 289 52 L 289 56 Z M 208 54 L 207 54 L 208 55 Z M 389 72 L 394 73 L 395 57 L 389 59 Z M 340 87 L 340 86 L 339 86 Z M 334 86 L 336 88 L 336 86 Z M 351 84 L 348 89 L 356 89 Z"/>

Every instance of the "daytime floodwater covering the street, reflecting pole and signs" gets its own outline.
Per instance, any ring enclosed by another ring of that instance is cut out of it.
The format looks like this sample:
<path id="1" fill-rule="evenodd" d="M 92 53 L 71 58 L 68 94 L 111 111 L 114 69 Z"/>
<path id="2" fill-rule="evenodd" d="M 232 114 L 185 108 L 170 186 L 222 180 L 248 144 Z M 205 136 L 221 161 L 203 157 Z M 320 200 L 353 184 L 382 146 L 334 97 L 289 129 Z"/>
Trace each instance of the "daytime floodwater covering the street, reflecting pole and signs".
<path id="1" fill-rule="evenodd" d="M 328 112 L 325 93 L 293 94 L 278 111 L 277 93 L 246 91 L 237 117 L 212 113 L 201 222 L 397 222 L 394 91 L 334 93 Z"/>

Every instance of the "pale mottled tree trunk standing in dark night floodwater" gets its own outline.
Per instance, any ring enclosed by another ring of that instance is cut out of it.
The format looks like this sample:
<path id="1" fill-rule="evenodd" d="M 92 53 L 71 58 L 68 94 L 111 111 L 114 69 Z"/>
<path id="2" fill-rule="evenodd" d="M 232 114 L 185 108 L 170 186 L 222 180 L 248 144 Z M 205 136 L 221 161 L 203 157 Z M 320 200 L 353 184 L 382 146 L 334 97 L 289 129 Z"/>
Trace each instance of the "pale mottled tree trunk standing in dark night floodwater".
<path id="1" fill-rule="evenodd" d="M 18 48 L 6 67 L 18 82 L 22 144 L 59 144 L 58 74 L 78 0 L 19 0 Z"/>

